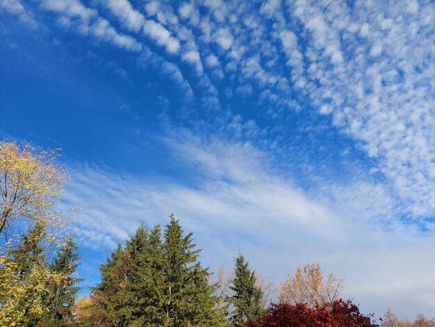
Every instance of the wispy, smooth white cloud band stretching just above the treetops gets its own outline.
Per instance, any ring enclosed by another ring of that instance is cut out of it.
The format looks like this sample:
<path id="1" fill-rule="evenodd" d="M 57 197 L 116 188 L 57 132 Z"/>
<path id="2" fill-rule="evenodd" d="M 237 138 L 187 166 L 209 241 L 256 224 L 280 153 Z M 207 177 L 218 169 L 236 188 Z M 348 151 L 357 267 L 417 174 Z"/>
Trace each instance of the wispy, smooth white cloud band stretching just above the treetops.
<path id="1" fill-rule="evenodd" d="M 83 208 L 76 216 L 82 246 L 113 248 L 140 223 L 165 224 L 174 212 L 195 232 L 213 269 L 232 266 L 239 249 L 274 280 L 297 265 L 320 262 L 346 278 L 345 295 L 366 312 L 381 314 L 385 303 L 402 315 L 433 312 L 434 239 L 374 218 L 394 215 L 394 199 L 381 185 L 336 184 L 307 194 L 274 171 L 268 155 L 252 144 L 205 140 L 188 131 L 174 136 L 163 141 L 180 173 L 195 176 L 189 186 L 72 166 L 63 201 Z M 373 194 L 377 202 L 368 205 Z"/>

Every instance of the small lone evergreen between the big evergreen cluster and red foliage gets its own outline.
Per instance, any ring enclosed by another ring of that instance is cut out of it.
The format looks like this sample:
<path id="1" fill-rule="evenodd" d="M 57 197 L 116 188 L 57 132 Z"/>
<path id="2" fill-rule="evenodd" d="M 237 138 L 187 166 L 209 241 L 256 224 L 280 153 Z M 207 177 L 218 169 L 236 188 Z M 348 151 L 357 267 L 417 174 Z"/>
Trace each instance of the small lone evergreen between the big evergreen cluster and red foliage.
<path id="1" fill-rule="evenodd" d="M 255 285 L 255 272 L 249 269 L 242 253 L 236 258 L 234 279 L 230 289 L 234 295 L 229 299 L 234 306 L 231 321 L 234 323 L 255 319 L 263 314 L 261 300 L 263 292 Z"/>

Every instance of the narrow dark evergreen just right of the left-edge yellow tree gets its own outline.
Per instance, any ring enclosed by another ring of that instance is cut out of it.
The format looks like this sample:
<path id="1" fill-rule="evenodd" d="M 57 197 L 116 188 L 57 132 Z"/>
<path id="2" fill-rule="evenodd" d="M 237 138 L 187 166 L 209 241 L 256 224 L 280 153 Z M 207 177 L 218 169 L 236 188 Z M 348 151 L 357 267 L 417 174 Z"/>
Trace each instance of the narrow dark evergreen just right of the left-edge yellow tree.
<path id="1" fill-rule="evenodd" d="M 74 285 L 83 281 L 83 278 L 73 277 L 80 259 L 79 255 L 74 253 L 76 250 L 77 247 L 74 245 L 72 237 L 67 237 L 65 242 L 61 244 L 54 262 L 49 266 L 50 271 L 66 276 L 60 283 L 51 281 L 47 285 L 49 294 L 46 301 L 49 312 L 44 320 L 49 322 L 51 326 L 55 324 L 61 326 L 62 322 L 69 321 L 73 316 L 72 310 L 76 294 L 80 289 Z"/>

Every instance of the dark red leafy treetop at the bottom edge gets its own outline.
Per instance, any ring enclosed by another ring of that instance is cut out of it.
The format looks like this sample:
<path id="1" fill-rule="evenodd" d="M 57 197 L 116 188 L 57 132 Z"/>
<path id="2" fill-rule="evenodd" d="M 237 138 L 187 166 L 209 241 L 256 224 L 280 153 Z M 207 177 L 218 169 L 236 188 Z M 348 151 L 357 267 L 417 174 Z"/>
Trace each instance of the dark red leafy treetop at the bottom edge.
<path id="1" fill-rule="evenodd" d="M 254 321 L 248 321 L 248 327 L 379 327 L 372 324 L 370 316 L 359 312 L 351 301 L 338 300 L 324 308 L 309 308 L 304 303 L 296 305 L 272 304 L 266 314 Z"/>

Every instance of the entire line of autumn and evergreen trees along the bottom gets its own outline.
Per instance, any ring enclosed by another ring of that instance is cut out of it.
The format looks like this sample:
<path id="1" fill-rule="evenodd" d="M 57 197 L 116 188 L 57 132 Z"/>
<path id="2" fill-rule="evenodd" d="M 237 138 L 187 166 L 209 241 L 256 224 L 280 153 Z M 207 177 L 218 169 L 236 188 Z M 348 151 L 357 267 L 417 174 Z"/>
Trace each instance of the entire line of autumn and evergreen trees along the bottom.
<path id="1" fill-rule="evenodd" d="M 59 155 L 0 141 L 0 326 L 435 326 L 391 310 L 377 324 L 340 297 L 345 280 L 324 276 L 319 264 L 276 286 L 239 253 L 231 272 L 213 274 L 173 214 L 164 228 L 140 225 L 100 264 L 90 294 L 77 298 L 81 258 L 56 209 L 67 178 Z"/>

